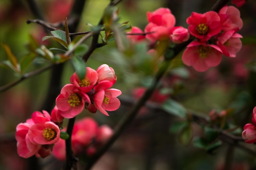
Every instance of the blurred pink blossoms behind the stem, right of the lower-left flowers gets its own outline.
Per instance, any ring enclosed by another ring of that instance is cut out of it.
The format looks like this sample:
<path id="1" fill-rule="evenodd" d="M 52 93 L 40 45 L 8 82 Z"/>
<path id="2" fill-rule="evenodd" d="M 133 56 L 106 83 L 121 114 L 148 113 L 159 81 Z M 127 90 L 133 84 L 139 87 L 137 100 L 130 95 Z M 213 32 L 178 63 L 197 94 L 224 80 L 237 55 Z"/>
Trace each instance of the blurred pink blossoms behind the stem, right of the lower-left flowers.
<path id="1" fill-rule="evenodd" d="M 65 130 L 65 128 L 64 128 Z M 108 125 L 98 126 L 94 119 L 85 117 L 74 124 L 71 144 L 75 156 L 92 155 L 97 148 L 104 144 L 113 134 Z M 65 160 L 65 140 L 60 139 L 52 150 L 56 159 Z"/>

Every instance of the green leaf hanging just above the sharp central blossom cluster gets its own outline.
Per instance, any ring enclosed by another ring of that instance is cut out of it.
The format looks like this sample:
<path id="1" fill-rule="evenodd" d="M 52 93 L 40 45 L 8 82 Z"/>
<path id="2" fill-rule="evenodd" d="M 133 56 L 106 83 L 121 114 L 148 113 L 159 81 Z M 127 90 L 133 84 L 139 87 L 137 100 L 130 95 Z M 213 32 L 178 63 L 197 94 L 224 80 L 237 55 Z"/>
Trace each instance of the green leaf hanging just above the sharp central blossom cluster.
<path id="1" fill-rule="evenodd" d="M 71 62 L 79 79 L 83 79 L 86 74 L 85 62 L 80 57 L 77 57 L 76 55 L 72 57 Z"/>

